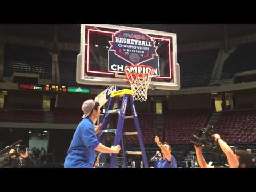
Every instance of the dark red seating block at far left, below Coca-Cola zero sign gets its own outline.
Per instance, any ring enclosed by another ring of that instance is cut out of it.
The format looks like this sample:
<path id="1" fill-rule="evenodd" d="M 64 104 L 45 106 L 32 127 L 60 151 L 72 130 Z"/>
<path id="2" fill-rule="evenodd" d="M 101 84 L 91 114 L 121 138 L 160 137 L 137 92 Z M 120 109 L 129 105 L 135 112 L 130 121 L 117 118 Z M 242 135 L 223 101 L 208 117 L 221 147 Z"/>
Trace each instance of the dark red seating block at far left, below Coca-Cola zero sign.
<path id="1" fill-rule="evenodd" d="M 44 123 L 44 111 L 0 110 L 0 122 Z"/>

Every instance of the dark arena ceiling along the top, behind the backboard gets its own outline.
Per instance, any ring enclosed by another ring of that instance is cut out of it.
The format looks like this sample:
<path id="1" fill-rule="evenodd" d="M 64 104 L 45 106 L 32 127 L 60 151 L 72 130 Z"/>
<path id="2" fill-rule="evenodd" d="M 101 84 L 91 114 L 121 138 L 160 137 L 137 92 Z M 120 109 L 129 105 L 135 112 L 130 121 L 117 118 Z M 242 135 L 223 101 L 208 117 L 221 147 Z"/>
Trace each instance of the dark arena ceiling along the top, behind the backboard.
<path id="1" fill-rule="evenodd" d="M 178 44 L 199 43 L 205 41 L 215 41 L 224 38 L 225 25 L 171 25 L 171 24 L 118 24 L 124 26 L 133 26 L 139 28 L 169 31 L 177 34 Z M 79 43 L 80 25 L 64 24 L 64 25 L 2 25 L 5 35 L 13 35 L 20 37 L 39 38 L 45 40 L 53 40 L 55 29 L 57 29 L 57 39 L 60 42 Z M 256 25 L 226 25 L 229 38 L 243 36 L 256 33 Z"/>

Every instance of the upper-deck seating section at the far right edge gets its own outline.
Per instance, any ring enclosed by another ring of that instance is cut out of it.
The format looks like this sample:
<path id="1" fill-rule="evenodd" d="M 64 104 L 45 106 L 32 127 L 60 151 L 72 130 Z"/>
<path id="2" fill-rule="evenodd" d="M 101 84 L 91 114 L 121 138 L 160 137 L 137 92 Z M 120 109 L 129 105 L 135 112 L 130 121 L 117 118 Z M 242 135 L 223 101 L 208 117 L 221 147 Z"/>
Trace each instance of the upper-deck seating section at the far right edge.
<path id="1" fill-rule="evenodd" d="M 225 61 L 221 78 L 229 79 L 233 78 L 235 73 L 255 70 L 255 49 L 255 42 L 239 45 L 237 49 Z"/>

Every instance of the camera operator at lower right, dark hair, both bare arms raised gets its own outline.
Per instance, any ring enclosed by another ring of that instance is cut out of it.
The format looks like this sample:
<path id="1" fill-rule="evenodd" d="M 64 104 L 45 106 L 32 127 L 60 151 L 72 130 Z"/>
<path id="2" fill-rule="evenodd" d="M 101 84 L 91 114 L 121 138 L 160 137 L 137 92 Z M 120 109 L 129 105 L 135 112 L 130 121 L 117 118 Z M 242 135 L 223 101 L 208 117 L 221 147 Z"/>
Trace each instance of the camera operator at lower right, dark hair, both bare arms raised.
<path id="1" fill-rule="evenodd" d="M 230 168 L 246 168 L 252 166 L 252 158 L 251 155 L 247 153 L 247 151 L 243 150 L 236 150 L 235 152 L 224 142 L 220 135 L 214 134 L 213 135 L 215 142 L 217 142 L 222 150 L 222 152 L 226 155 L 228 164 Z M 214 168 L 206 163 L 201 147 L 195 146 L 196 149 L 196 157 L 198 164 L 201 168 Z"/>

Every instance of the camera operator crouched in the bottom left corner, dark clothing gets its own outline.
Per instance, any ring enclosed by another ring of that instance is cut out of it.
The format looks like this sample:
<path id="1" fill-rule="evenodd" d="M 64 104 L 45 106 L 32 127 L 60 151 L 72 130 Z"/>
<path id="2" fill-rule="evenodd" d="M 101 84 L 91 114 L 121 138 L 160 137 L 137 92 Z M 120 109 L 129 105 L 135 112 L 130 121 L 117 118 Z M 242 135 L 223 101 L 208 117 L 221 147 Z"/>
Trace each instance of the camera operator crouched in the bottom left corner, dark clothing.
<path id="1" fill-rule="evenodd" d="M 4 168 L 29 168 L 36 167 L 35 162 L 28 156 L 28 151 L 21 151 L 22 153 L 15 153 L 14 149 L 9 151 L 9 158 L 3 162 Z"/>

